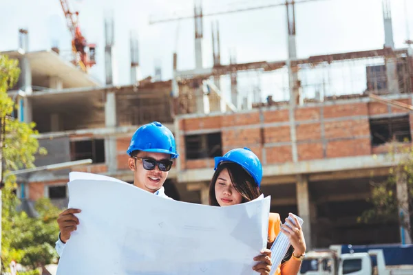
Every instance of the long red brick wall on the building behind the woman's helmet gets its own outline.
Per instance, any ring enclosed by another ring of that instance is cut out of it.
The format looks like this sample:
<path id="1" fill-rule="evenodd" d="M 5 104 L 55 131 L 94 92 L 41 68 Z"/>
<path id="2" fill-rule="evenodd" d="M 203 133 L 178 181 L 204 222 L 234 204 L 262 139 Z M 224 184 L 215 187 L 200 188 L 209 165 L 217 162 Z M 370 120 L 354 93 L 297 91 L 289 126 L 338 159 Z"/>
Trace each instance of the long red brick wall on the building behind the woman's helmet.
<path id="1" fill-rule="evenodd" d="M 411 100 L 399 100 L 410 104 Z M 377 102 L 324 104 L 316 107 L 298 107 L 294 111 L 299 161 L 330 157 L 348 157 L 379 153 L 370 144 L 369 118 L 375 115 L 405 111 L 389 108 Z M 293 161 L 290 139 L 290 113 L 288 109 L 253 110 L 246 113 L 213 115 L 203 118 L 182 119 L 178 149 L 184 153 L 184 135 L 217 131 L 222 133 L 223 153 L 232 148 L 254 148 L 266 164 Z M 413 129 L 413 115 L 410 123 Z M 412 131 L 413 133 L 413 131 Z M 264 148 L 265 155 L 262 156 Z M 183 154 L 184 155 L 184 154 Z M 181 167 L 208 168 L 208 159 L 187 162 L 181 154 Z"/>

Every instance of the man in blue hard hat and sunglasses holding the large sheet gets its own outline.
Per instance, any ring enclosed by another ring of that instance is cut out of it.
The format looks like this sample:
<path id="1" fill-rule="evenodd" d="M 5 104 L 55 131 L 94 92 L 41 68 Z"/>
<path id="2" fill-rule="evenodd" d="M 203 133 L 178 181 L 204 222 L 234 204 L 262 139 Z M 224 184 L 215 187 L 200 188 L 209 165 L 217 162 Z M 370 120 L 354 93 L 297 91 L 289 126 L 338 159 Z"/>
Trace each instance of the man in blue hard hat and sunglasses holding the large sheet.
<path id="1" fill-rule="evenodd" d="M 134 186 L 154 195 L 165 197 L 163 184 L 171 169 L 172 160 L 178 157 L 175 138 L 167 127 L 160 122 L 151 122 L 140 126 L 134 133 L 127 149 L 129 168 L 134 171 Z M 79 224 L 74 214 L 80 209 L 70 208 L 57 219 L 60 234 L 56 241 L 56 251 L 61 256 L 65 243 L 70 239 L 70 234 Z"/>

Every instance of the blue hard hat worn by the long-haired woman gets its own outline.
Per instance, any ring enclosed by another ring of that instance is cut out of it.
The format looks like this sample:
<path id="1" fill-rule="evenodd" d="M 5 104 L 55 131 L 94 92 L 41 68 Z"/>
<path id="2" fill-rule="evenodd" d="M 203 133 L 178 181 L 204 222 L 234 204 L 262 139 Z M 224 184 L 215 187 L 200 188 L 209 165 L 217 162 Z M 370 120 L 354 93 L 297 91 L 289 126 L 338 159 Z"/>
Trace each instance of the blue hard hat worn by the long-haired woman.
<path id="1" fill-rule="evenodd" d="M 217 169 L 218 165 L 220 165 L 221 162 L 235 162 L 236 164 L 239 164 L 248 172 L 248 174 L 253 177 L 255 180 L 255 184 L 257 184 L 258 187 L 261 185 L 261 179 L 262 179 L 262 165 L 260 162 L 260 159 L 251 151 L 249 148 L 236 148 L 231 151 L 228 151 L 225 155 L 222 157 L 215 157 L 215 168 L 214 170 Z"/>

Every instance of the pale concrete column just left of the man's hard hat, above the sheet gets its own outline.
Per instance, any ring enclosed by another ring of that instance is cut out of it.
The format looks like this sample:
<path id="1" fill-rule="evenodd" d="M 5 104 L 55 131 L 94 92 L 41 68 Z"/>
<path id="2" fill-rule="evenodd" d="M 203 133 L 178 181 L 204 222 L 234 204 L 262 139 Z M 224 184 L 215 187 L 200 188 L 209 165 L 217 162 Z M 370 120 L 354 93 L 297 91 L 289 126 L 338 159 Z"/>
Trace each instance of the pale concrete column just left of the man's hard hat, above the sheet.
<path id="1" fill-rule="evenodd" d="M 105 126 L 109 128 L 117 126 L 116 95 L 114 91 L 109 91 L 106 94 Z M 118 152 L 116 151 L 116 136 L 114 135 L 109 135 L 105 138 L 105 159 L 109 172 L 114 172 L 118 169 Z"/>

